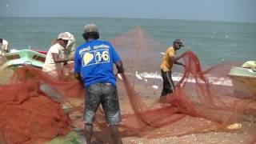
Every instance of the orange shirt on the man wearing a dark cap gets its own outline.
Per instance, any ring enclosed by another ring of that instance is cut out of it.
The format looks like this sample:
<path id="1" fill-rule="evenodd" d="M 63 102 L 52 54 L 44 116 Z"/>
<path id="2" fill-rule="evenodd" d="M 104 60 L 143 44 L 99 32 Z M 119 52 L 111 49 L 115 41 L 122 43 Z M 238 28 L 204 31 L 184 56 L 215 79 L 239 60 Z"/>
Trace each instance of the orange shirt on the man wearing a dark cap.
<path id="1" fill-rule="evenodd" d="M 175 56 L 176 51 L 174 50 L 173 46 L 170 46 L 167 50 L 166 50 L 166 54 L 163 56 L 163 62 L 162 65 L 160 66 L 161 69 L 166 72 L 166 71 L 170 71 L 171 68 L 174 65 L 174 62 L 172 62 L 171 57 Z"/>

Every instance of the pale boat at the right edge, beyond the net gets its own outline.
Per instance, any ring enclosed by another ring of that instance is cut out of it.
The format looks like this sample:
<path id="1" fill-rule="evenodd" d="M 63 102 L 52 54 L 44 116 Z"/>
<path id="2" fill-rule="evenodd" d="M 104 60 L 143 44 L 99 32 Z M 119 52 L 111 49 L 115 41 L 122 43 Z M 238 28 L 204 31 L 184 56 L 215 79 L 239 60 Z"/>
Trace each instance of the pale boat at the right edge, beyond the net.
<path id="1" fill-rule="evenodd" d="M 230 74 L 234 95 L 242 98 L 256 98 L 256 72 L 250 68 L 232 67 Z"/>

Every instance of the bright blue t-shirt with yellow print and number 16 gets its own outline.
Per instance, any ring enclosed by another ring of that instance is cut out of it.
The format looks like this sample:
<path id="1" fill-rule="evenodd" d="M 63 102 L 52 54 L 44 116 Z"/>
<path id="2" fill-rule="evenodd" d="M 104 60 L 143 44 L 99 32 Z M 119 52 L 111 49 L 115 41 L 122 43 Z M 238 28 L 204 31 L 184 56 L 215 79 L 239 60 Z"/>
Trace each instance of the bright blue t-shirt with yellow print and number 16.
<path id="1" fill-rule="evenodd" d="M 120 61 L 110 42 L 94 40 L 78 46 L 74 55 L 74 73 L 80 73 L 84 86 L 95 82 L 110 82 L 114 86 L 113 64 Z"/>

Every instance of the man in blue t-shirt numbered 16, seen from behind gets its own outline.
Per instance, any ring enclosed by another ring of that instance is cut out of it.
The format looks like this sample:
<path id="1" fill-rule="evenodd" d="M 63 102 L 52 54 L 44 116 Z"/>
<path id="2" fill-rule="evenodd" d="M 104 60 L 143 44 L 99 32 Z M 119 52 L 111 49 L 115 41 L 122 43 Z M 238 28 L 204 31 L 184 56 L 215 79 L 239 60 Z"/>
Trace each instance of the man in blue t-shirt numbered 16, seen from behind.
<path id="1" fill-rule="evenodd" d="M 118 53 L 110 42 L 98 40 L 98 26 L 88 24 L 84 27 L 84 44 L 78 46 L 74 55 L 74 74 L 86 89 L 85 130 L 86 142 L 91 143 L 93 122 L 98 106 L 102 104 L 106 122 L 110 126 L 113 143 L 122 143 L 118 135 L 121 113 L 113 65 L 122 74 L 124 69 Z"/>

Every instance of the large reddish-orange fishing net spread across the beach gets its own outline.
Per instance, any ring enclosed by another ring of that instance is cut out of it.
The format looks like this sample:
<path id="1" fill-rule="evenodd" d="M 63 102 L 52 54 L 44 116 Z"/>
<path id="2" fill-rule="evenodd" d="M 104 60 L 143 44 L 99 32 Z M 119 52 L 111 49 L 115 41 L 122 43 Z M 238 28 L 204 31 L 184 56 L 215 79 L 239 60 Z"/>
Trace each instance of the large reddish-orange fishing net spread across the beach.
<path id="1" fill-rule="evenodd" d="M 166 50 L 166 46 L 140 27 L 110 41 L 126 69 L 122 79 L 117 78 L 122 138 L 231 133 L 241 130 L 242 122 L 254 124 L 256 94 L 254 91 L 249 96 L 234 94 L 228 75 L 232 66 L 242 63 L 221 63 L 202 70 L 197 56 L 187 51 L 179 59 L 185 67 L 173 69 L 173 77 L 179 78 L 175 81 L 176 90 L 159 99 L 162 88 L 159 51 Z M 72 135 L 72 130 L 83 130 L 85 91 L 72 71 L 73 63 L 69 63 L 58 72 L 59 78 L 53 78 L 31 66 L 13 69 L 2 65 L 0 142 L 49 143 L 54 138 Z M 250 127 L 243 140 L 255 142 L 255 132 L 255 126 Z M 111 142 L 102 108 L 94 122 L 94 141 Z"/>

